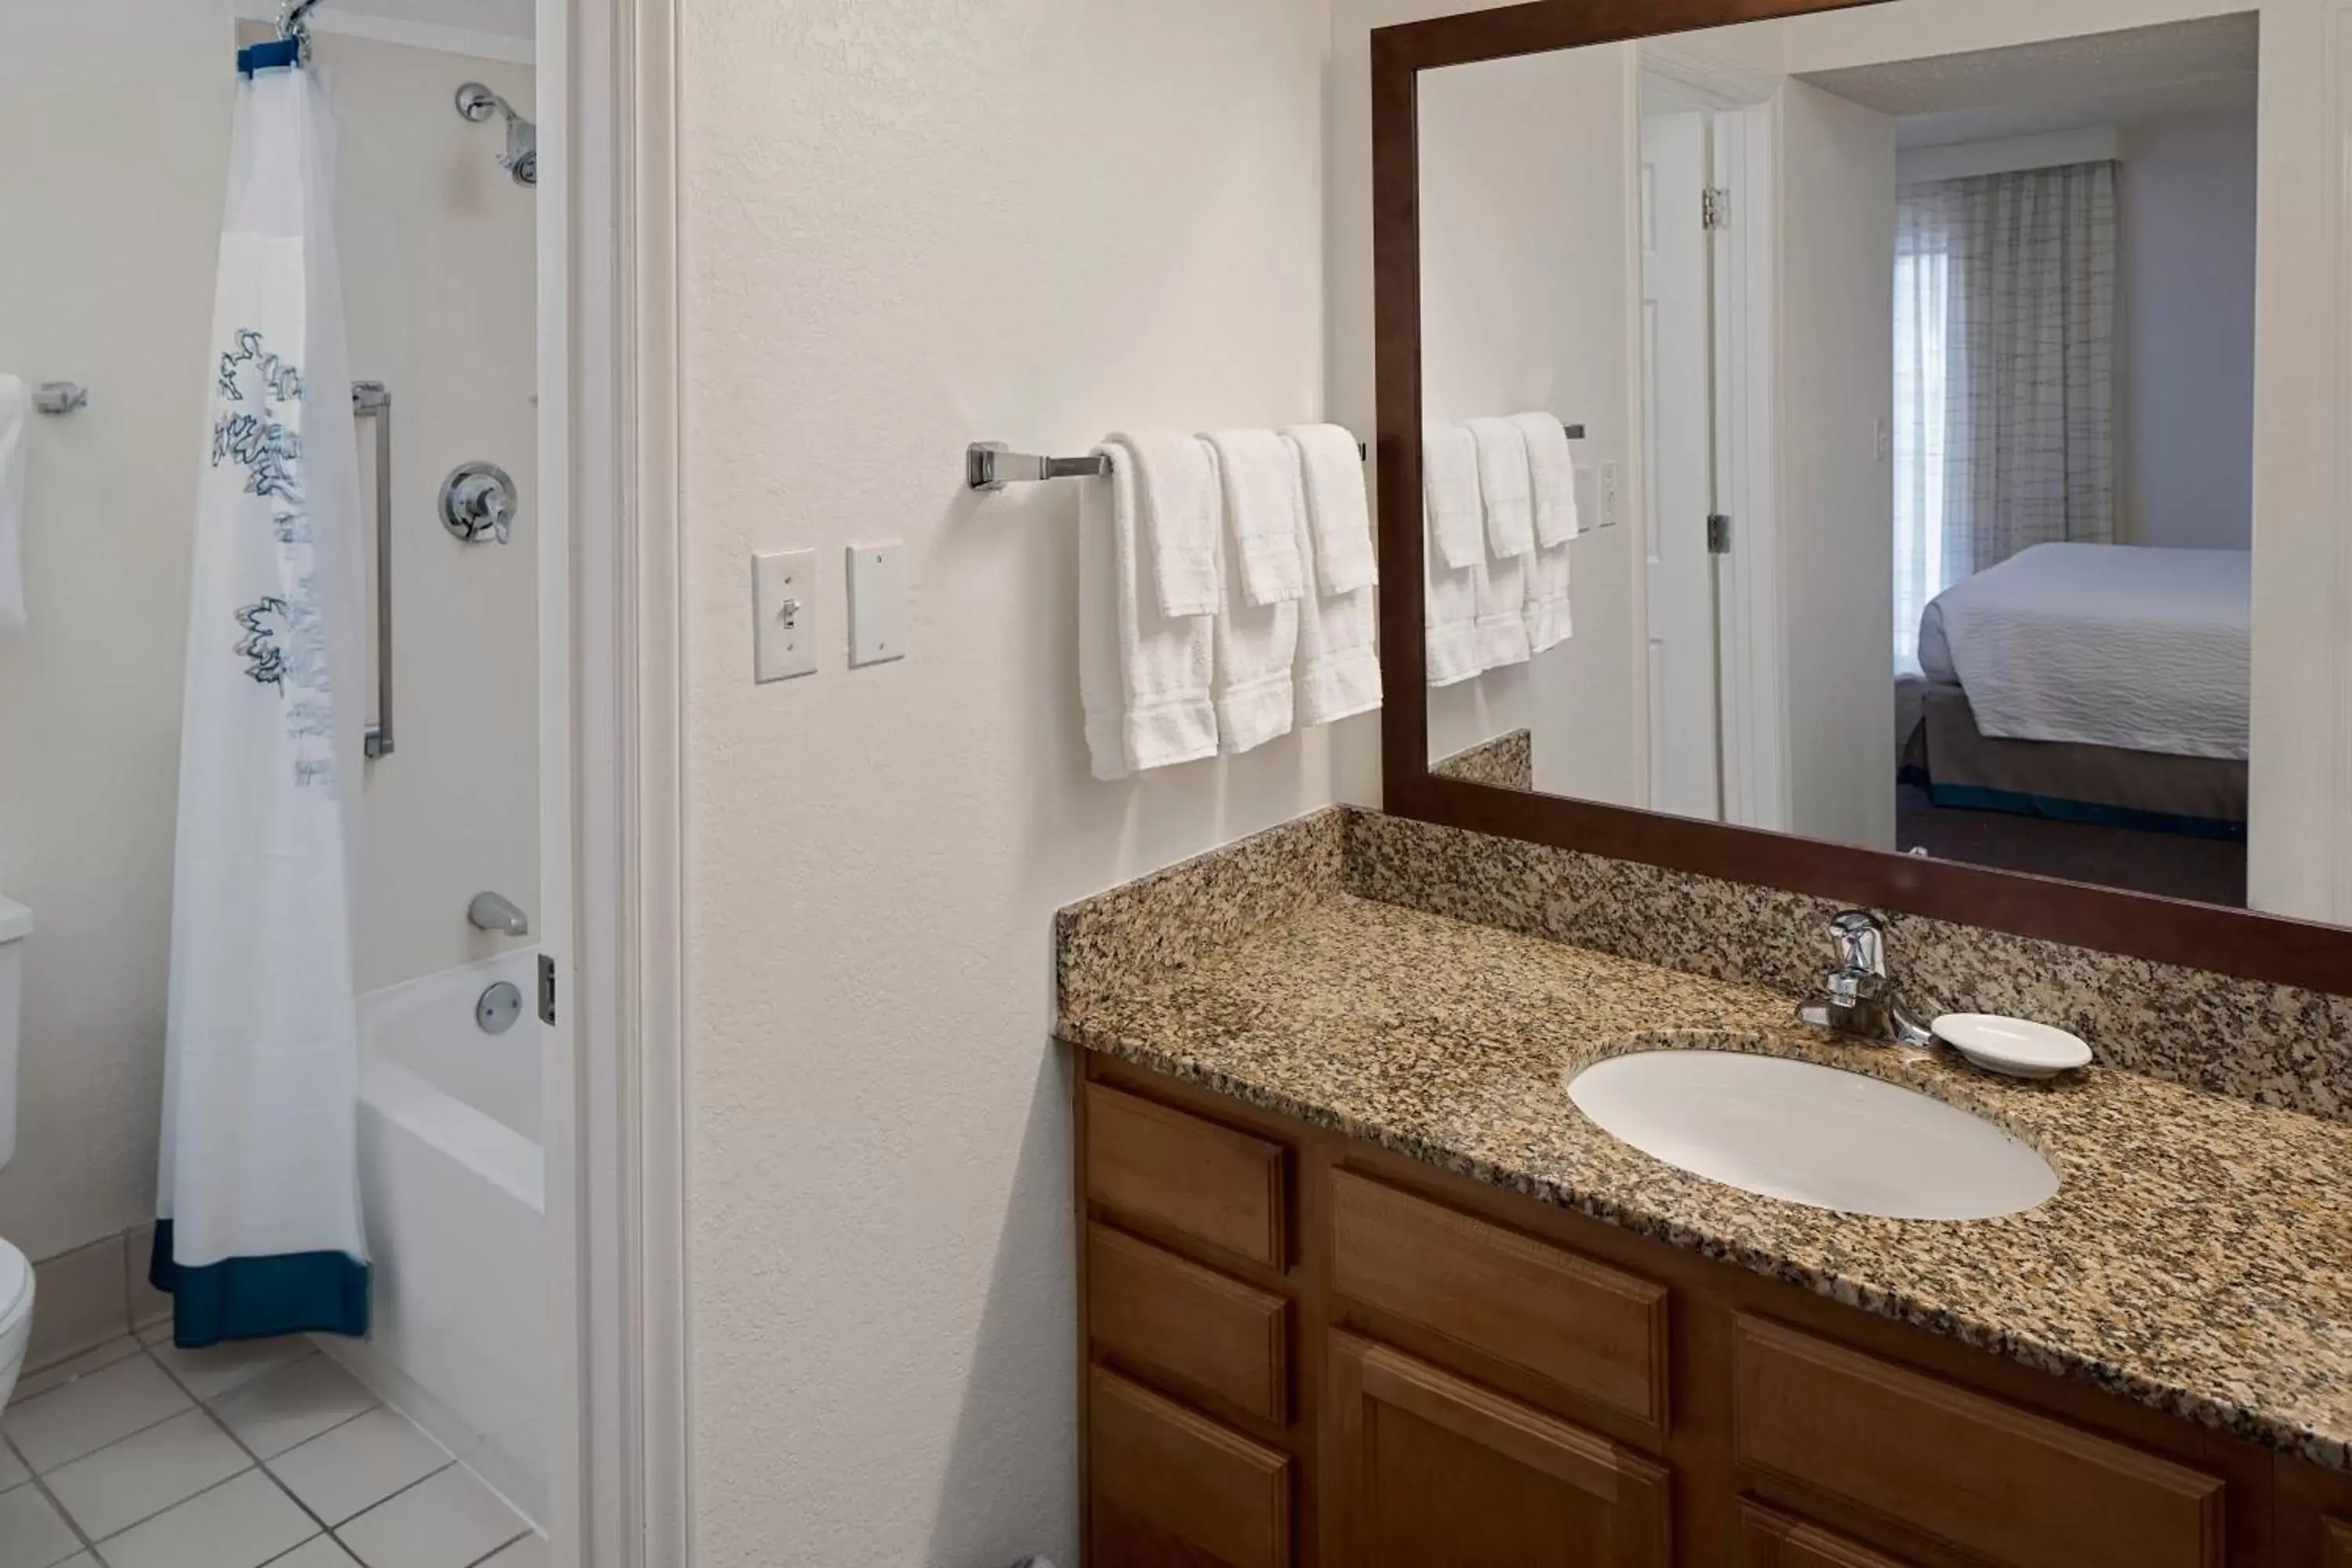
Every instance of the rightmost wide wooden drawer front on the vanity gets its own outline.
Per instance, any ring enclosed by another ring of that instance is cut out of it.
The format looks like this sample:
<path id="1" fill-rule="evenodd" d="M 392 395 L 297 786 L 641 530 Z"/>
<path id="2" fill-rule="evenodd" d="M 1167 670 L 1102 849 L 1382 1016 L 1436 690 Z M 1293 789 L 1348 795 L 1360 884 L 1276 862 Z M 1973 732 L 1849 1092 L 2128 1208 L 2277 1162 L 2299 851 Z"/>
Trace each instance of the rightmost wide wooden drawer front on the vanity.
<path id="1" fill-rule="evenodd" d="M 2223 1481 L 1811 1335 L 1738 1319 L 1743 1465 L 2006 1568 L 2218 1568 Z"/>

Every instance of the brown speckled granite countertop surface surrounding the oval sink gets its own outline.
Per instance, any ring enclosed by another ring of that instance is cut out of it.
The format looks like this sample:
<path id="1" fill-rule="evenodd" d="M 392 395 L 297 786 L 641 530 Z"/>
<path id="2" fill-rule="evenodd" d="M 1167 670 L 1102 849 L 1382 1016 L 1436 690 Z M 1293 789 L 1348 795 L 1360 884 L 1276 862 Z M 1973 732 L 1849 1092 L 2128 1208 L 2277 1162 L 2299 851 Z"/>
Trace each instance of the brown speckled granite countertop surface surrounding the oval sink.
<path id="1" fill-rule="evenodd" d="M 1336 889 L 1174 973 L 1101 969 L 1065 994 L 1075 1046 L 2352 1469 L 2343 1121 L 2112 1067 L 2020 1084 L 1849 1046 L 1773 990 Z M 1973 1110 L 2058 1168 L 2058 1197 L 1969 1222 L 1806 1208 L 1665 1166 L 1566 1098 L 1576 1067 L 1691 1032 Z"/>

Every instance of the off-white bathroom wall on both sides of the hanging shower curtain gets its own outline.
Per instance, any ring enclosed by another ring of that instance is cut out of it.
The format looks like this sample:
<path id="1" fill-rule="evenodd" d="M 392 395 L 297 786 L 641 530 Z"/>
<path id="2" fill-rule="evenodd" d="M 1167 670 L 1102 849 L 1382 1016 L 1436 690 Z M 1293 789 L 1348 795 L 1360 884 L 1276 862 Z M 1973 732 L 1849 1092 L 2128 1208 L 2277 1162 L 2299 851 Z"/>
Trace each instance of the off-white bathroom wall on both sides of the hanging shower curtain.
<path id="1" fill-rule="evenodd" d="M 21 1138 L 0 1237 L 47 1258 L 155 1211 L 188 543 L 228 118 L 230 0 L 0 9 L 0 367 L 35 418 L 31 630 L 0 642 L 0 893 L 33 907 Z M 341 71 L 355 369 L 395 390 L 400 755 L 369 780 L 362 983 L 487 952 L 466 898 L 539 879 L 529 517 L 463 557 L 454 451 L 532 475 L 532 197 L 449 106 L 452 54 L 320 40 Z M 480 447 L 487 442 L 487 447 Z M 397 776 L 393 773 L 397 769 Z"/>

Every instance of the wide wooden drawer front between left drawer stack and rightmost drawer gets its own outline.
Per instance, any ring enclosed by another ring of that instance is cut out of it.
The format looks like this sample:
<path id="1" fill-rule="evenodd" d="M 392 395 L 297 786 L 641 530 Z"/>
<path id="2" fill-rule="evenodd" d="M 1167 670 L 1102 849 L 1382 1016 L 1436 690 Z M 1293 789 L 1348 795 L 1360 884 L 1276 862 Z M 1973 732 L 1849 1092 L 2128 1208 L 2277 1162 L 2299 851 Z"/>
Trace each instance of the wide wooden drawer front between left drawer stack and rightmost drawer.
<path id="1" fill-rule="evenodd" d="M 1331 1173 L 1331 1286 L 1665 1432 L 1665 1288 Z"/>

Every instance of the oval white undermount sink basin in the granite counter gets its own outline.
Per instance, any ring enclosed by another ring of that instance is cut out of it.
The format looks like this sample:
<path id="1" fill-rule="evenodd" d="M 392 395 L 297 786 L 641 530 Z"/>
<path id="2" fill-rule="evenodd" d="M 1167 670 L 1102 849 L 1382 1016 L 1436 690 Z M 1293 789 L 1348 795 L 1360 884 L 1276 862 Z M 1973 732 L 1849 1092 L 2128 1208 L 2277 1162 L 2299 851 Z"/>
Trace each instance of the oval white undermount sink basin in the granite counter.
<path id="1" fill-rule="evenodd" d="M 1613 1056 L 1578 1072 L 1569 1098 L 1653 1159 L 1816 1208 L 1992 1220 L 2058 1192 L 2051 1164 L 1990 1121 L 1785 1056 Z"/>

